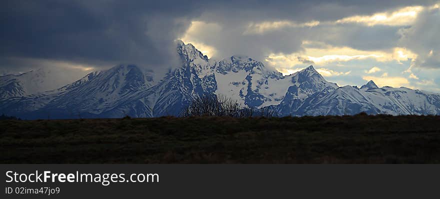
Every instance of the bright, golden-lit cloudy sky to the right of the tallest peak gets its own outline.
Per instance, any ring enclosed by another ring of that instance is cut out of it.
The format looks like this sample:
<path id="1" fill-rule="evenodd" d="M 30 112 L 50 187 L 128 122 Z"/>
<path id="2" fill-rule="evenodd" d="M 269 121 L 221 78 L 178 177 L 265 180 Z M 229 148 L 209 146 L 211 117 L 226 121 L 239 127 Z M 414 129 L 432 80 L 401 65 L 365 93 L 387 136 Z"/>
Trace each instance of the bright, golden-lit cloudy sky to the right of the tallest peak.
<path id="1" fill-rule="evenodd" d="M 372 79 L 440 91 L 439 3 L 388 3 L 317 3 L 291 15 L 228 11 L 219 19 L 202 13 L 181 39 L 209 57 L 245 53 L 284 74 L 314 64 L 341 85 Z"/>

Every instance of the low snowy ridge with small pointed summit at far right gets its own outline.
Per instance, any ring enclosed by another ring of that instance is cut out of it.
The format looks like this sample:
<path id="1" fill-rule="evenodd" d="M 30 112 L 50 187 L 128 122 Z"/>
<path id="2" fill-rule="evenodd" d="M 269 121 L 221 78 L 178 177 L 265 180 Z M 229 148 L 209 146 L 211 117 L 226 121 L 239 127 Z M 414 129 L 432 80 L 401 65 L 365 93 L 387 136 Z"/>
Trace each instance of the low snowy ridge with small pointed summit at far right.
<path id="1" fill-rule="evenodd" d="M 297 115 L 440 114 L 440 95 L 405 87 L 378 88 L 373 81 L 358 88 L 343 86 L 307 98 Z"/>

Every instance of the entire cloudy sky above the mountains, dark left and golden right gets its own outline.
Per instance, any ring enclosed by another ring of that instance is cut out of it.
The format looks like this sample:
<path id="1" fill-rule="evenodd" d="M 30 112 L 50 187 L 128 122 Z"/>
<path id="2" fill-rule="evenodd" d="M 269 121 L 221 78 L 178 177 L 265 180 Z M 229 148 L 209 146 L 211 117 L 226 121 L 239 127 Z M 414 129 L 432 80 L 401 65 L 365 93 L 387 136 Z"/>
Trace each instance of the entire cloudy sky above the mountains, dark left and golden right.
<path id="1" fill-rule="evenodd" d="M 313 64 L 339 85 L 440 92 L 438 0 L 11 0 L 0 10 L 0 73 L 163 69 L 181 39 L 284 74 Z"/>

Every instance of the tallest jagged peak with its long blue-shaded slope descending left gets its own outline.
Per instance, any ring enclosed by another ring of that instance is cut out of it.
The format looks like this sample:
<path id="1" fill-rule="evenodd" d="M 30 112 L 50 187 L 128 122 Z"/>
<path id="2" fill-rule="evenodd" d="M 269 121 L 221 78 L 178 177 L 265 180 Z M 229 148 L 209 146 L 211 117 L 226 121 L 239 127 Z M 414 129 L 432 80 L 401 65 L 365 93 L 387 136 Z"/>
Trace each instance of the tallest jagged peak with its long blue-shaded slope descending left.
<path id="1" fill-rule="evenodd" d="M 151 87 L 128 95 L 112 110 L 116 112 L 112 115 L 120 115 L 121 111 L 135 117 L 178 115 L 194 97 L 213 93 L 217 87 L 207 57 L 183 42 L 177 44 L 177 53 L 180 67 L 172 68 Z"/>

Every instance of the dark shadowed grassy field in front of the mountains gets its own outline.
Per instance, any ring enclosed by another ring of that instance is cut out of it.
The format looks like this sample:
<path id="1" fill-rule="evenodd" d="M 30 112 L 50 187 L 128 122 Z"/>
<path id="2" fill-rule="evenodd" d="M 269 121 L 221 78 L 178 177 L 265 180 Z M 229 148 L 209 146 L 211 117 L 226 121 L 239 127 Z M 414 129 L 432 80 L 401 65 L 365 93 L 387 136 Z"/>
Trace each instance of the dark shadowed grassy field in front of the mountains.
<path id="1" fill-rule="evenodd" d="M 440 116 L 1 120 L 0 163 L 440 163 Z"/>

